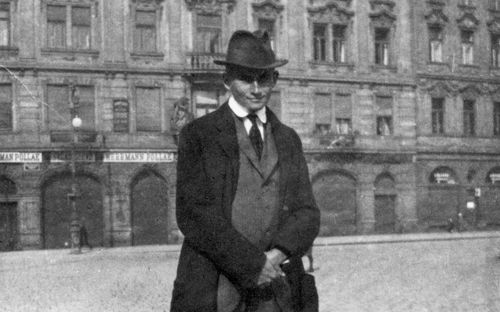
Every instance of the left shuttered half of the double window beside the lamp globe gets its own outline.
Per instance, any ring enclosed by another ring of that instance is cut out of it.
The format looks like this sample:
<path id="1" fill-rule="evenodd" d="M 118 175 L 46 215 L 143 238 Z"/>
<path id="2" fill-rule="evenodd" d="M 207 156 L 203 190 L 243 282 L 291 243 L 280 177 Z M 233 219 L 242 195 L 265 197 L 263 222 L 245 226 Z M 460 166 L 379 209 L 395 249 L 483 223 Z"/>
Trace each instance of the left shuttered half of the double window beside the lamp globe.
<path id="1" fill-rule="evenodd" d="M 70 130 L 69 96 L 67 86 L 47 86 L 47 114 L 50 130 Z"/>

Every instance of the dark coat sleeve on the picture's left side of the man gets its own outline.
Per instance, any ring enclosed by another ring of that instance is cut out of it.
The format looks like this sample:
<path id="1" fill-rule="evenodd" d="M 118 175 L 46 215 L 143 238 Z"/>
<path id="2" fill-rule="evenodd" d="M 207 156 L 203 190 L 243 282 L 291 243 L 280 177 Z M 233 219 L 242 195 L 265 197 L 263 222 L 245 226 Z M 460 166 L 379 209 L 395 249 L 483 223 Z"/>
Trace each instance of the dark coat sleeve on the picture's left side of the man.
<path id="1" fill-rule="evenodd" d="M 205 144 L 192 124 L 179 136 L 176 217 L 188 244 L 209 259 L 227 278 L 243 288 L 256 287 L 265 255 L 234 229 L 213 194 L 206 172 Z M 212 164 L 213 165 L 213 164 Z M 218 181 L 222 183 L 222 181 Z"/>

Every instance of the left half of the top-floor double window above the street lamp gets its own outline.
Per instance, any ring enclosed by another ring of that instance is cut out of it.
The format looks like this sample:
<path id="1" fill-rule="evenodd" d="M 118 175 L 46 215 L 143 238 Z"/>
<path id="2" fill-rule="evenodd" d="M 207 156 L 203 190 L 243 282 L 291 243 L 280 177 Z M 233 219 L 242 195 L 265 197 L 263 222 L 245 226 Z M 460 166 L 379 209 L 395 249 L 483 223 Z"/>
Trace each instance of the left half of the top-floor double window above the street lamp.
<path id="1" fill-rule="evenodd" d="M 66 47 L 66 6 L 47 5 L 47 46 Z"/>

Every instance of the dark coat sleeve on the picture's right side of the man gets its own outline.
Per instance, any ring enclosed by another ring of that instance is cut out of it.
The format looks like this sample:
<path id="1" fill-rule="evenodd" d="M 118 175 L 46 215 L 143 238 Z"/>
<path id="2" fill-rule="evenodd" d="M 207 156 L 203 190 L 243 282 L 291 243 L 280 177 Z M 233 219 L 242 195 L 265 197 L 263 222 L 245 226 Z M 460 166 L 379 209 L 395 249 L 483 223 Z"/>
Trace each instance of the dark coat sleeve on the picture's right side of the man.
<path id="1" fill-rule="evenodd" d="M 314 201 L 309 180 L 307 163 L 298 135 L 293 131 L 294 150 L 290 170 L 295 174 L 287 181 L 284 205 L 288 207 L 288 216 L 282 222 L 273 246 L 288 257 L 302 257 L 312 246 L 319 232 L 319 210 Z"/>

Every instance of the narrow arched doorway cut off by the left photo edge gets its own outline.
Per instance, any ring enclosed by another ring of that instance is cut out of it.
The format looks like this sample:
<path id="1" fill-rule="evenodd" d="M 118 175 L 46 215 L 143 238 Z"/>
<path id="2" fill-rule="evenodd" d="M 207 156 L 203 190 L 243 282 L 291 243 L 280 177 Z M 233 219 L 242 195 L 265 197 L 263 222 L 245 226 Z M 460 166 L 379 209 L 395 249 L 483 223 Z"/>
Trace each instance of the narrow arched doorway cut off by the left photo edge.
<path id="1" fill-rule="evenodd" d="M 11 199 L 16 193 L 14 181 L 0 176 L 0 252 L 17 246 L 17 203 Z"/>

